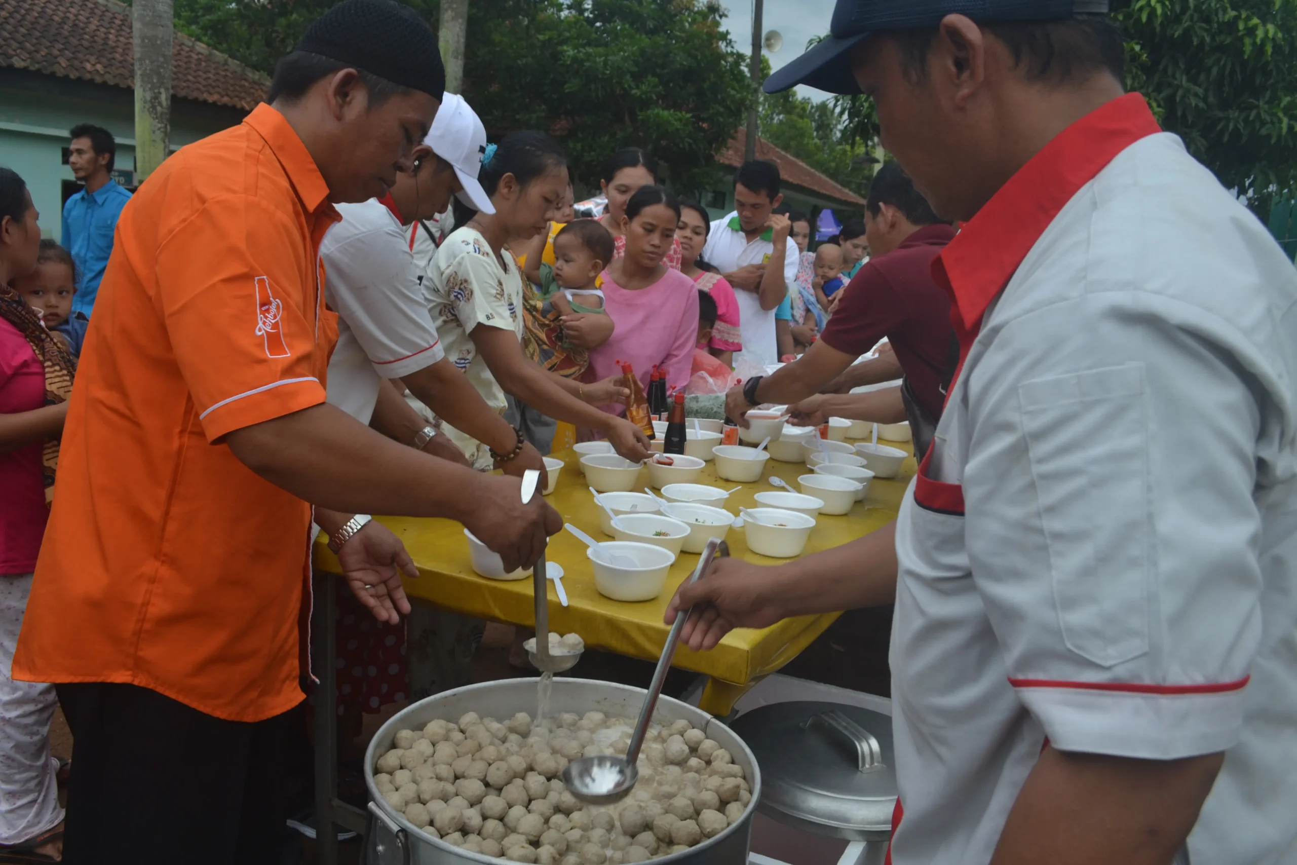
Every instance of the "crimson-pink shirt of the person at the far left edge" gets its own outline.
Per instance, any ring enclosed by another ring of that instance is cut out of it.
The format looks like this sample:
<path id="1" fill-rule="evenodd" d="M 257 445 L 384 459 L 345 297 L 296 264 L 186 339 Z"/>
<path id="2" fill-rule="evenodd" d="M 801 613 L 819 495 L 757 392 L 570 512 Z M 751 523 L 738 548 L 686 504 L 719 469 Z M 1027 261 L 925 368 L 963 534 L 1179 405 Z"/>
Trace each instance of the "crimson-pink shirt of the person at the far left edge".
<path id="1" fill-rule="evenodd" d="M 34 411 L 45 405 L 45 368 L 18 328 L 0 319 L 0 414 Z M 0 454 L 0 575 L 36 569 L 45 533 L 44 445 L 34 442 Z"/>

